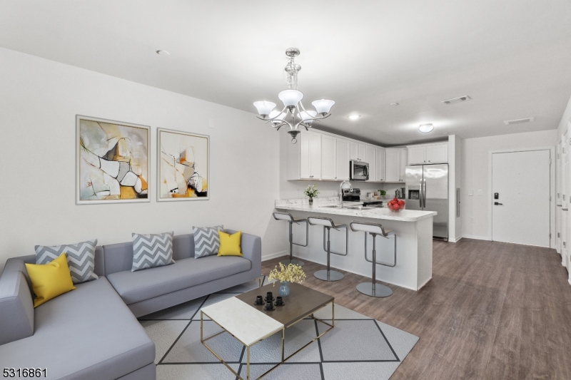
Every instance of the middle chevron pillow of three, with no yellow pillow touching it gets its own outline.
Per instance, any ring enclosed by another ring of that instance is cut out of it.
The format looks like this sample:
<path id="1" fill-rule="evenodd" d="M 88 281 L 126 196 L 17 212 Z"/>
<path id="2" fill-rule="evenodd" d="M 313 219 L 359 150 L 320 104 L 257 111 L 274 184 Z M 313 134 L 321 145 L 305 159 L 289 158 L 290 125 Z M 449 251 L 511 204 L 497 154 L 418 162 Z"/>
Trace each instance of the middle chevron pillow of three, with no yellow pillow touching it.
<path id="1" fill-rule="evenodd" d="M 174 264 L 173 232 L 133 237 L 133 267 L 131 272 Z"/>

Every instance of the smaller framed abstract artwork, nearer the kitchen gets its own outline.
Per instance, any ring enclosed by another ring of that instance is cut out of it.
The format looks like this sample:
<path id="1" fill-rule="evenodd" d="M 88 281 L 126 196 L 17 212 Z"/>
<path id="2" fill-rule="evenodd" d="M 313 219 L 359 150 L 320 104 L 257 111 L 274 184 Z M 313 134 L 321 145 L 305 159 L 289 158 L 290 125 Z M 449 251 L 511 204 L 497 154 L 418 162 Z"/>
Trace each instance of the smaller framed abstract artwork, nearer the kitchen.
<path id="1" fill-rule="evenodd" d="M 157 128 L 157 200 L 208 200 L 210 137 Z"/>

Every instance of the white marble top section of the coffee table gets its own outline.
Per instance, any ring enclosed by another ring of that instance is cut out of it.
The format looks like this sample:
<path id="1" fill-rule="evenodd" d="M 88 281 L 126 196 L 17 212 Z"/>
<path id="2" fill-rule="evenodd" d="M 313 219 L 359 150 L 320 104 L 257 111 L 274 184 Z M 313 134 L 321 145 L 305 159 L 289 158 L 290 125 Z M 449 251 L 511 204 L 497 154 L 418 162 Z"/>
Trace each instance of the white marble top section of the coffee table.
<path id="1" fill-rule="evenodd" d="M 246 346 L 283 329 L 276 319 L 236 297 L 203 307 L 201 311 Z"/>

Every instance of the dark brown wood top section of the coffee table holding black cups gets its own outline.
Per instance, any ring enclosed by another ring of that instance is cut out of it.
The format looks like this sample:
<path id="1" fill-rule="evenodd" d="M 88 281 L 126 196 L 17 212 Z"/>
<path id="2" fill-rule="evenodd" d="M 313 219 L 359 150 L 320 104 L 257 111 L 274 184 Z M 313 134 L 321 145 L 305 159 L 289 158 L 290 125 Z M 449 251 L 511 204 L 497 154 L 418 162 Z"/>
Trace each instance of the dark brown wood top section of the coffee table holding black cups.
<path id="1" fill-rule="evenodd" d="M 326 304 L 335 301 L 335 297 L 331 297 L 328 294 L 318 292 L 317 290 L 304 287 L 300 284 L 291 283 L 290 295 L 283 298 L 283 302 L 285 303 L 284 306 L 276 306 L 276 310 L 266 311 L 263 309 L 264 305 L 254 304 L 256 296 L 266 298 L 267 292 L 272 292 L 274 298 L 278 297 L 279 288 L 280 282 L 274 282 L 273 284 L 267 284 L 263 287 L 258 287 L 257 289 L 240 294 L 236 296 L 236 298 L 267 314 L 268 317 L 276 319 L 276 321 L 280 322 L 285 327 L 290 327 L 292 324 L 298 322 L 308 314 L 311 314 Z"/>

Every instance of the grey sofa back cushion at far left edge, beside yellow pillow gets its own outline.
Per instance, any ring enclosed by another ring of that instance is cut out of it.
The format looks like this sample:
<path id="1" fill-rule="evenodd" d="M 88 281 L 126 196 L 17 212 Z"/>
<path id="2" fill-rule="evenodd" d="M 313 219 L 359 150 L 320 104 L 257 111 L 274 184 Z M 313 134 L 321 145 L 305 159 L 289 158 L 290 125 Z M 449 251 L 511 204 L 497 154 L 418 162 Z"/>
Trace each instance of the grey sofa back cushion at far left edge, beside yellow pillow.
<path id="1" fill-rule="evenodd" d="M 19 270 L 4 269 L 0 277 L 0 346 L 32 334 L 34 304 L 26 277 Z"/>

